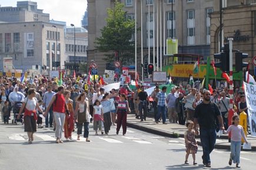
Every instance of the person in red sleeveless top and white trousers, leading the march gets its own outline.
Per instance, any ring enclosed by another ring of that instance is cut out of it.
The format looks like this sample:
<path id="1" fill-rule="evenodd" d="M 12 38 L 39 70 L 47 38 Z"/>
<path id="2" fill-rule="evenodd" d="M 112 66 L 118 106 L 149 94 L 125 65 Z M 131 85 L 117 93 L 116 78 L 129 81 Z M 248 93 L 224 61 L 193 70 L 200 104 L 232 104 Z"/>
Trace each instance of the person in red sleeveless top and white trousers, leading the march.
<path id="1" fill-rule="evenodd" d="M 52 96 L 52 100 L 49 103 L 48 107 L 46 108 L 46 111 L 44 114 L 44 116 L 47 116 L 49 109 L 51 108 L 52 104 L 54 104 L 53 111 L 54 111 L 54 119 L 56 122 L 55 137 L 56 137 L 57 144 L 63 143 L 63 141 L 61 140 L 61 137 L 62 137 L 62 131 L 64 127 L 66 108 L 68 108 L 65 102 L 65 97 L 63 93 L 64 93 L 64 87 L 59 86 L 58 93 Z"/>

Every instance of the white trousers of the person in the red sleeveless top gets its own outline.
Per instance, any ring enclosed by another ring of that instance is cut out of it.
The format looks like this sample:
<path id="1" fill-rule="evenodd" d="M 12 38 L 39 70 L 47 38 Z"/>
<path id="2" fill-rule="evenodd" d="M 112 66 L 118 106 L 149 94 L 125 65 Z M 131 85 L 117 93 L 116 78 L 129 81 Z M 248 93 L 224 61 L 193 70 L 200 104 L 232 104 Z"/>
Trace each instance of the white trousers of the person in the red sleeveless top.
<path id="1" fill-rule="evenodd" d="M 65 121 L 65 113 L 54 112 L 54 118 L 56 122 L 55 137 L 61 139 Z"/>

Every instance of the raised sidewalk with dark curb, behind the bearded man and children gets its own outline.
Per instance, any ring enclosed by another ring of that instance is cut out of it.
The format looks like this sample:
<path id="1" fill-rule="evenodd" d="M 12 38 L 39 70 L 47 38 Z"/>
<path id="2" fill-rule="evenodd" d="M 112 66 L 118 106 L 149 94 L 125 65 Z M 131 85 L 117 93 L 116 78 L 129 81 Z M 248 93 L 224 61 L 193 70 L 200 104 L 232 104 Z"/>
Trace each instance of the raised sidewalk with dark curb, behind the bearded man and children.
<path id="1" fill-rule="evenodd" d="M 161 135 L 163 137 L 171 137 L 177 138 L 181 137 L 184 138 L 184 132 L 187 130 L 185 125 L 179 124 L 156 124 L 154 118 L 147 118 L 147 121 L 141 122 L 140 120 L 135 118 L 134 114 L 128 114 L 127 116 L 127 126 L 131 128 L 135 128 L 138 130 L 142 130 L 145 132 L 149 132 L 152 134 Z M 201 145 L 199 137 L 197 137 L 198 145 Z M 252 137 L 248 135 L 247 140 L 251 143 L 251 150 L 244 150 L 244 151 L 256 151 L 256 137 Z M 215 144 L 216 149 L 230 149 L 230 143 L 228 142 L 228 135 L 221 135 L 218 137 Z"/>

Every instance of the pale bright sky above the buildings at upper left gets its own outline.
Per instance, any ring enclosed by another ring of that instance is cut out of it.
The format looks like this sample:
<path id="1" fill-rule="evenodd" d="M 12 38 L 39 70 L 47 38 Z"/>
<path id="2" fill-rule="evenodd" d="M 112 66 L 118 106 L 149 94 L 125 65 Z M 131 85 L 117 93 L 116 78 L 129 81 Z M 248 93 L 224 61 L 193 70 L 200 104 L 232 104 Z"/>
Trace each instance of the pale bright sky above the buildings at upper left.
<path id="1" fill-rule="evenodd" d="M 38 9 L 44 9 L 44 13 L 50 14 L 50 19 L 67 22 L 67 26 L 71 23 L 81 26 L 82 16 L 87 9 L 87 0 L 34 0 L 34 2 L 37 2 Z M 17 0 L 1 0 L 0 5 L 15 7 Z"/>

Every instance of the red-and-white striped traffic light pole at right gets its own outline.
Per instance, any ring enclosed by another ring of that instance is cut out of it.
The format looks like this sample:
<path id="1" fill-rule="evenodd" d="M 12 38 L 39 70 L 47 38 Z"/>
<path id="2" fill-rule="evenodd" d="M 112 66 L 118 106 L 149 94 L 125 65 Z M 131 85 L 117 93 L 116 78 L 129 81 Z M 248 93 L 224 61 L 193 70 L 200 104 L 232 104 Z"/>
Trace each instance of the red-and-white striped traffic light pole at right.
<path id="1" fill-rule="evenodd" d="M 228 111 L 228 125 L 231 125 L 231 118 L 234 115 L 233 110 L 233 55 L 232 55 L 232 47 L 233 47 L 233 38 L 228 38 L 229 46 L 230 46 L 230 110 Z M 231 134 L 228 134 L 228 141 L 231 139 Z"/>

